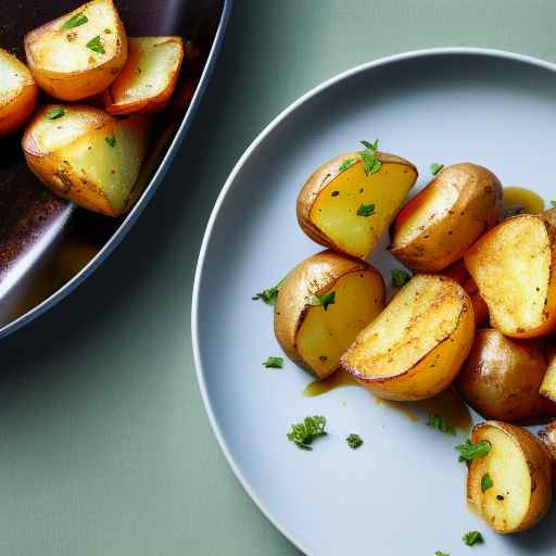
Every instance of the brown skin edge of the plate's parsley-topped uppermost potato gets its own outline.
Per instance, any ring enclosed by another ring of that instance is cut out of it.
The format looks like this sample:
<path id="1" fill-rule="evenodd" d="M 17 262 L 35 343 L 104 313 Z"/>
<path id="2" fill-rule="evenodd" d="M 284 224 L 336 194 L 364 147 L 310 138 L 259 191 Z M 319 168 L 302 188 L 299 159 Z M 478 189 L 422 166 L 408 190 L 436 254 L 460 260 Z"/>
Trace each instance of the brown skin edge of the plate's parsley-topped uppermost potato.
<path id="1" fill-rule="evenodd" d="M 379 151 L 376 153 L 376 157 L 382 164 L 403 164 L 404 166 L 412 167 L 415 170 L 415 173 L 417 173 L 417 168 L 413 163 L 405 159 L 402 159 L 401 156 L 396 156 L 395 154 Z M 313 207 L 313 203 L 317 199 L 320 191 L 323 191 L 323 189 L 325 189 L 339 174 L 341 174 L 342 170 L 340 169 L 340 165 L 346 159 L 359 160 L 361 153 L 358 151 L 346 152 L 320 165 L 309 176 L 307 181 L 305 181 L 305 185 L 300 191 L 296 203 L 296 215 L 301 229 L 313 241 L 316 241 L 320 245 L 333 249 L 336 251 L 342 250 L 338 245 L 334 245 L 330 238 L 325 236 L 311 222 L 311 208 Z"/>

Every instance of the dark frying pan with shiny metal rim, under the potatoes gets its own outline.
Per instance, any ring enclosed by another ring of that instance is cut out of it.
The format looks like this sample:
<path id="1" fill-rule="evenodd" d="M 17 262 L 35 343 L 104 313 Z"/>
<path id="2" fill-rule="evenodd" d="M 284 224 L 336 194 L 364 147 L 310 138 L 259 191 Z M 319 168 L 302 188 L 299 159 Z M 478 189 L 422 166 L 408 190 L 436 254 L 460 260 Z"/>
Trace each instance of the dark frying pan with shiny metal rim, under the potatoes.
<path id="1" fill-rule="evenodd" d="M 12 0 L 2 7 L 0 47 L 22 60 L 23 36 L 84 0 Z M 144 192 L 122 218 L 59 199 L 27 169 L 21 135 L 0 140 L 0 338 L 67 295 L 122 241 L 154 190 L 197 111 L 218 54 L 231 0 L 115 0 L 129 36 L 180 35 L 186 61 L 143 163 Z"/>

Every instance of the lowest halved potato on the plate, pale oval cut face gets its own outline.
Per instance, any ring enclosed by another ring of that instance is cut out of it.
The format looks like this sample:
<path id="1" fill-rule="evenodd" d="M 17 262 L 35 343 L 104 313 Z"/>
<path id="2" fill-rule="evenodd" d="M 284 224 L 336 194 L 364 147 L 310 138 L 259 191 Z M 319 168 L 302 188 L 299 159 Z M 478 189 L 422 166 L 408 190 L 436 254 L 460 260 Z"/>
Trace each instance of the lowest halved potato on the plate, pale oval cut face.
<path id="1" fill-rule="evenodd" d="M 502 421 L 476 425 L 470 440 L 489 442 L 491 451 L 470 462 L 469 503 L 496 533 L 517 533 L 535 526 L 552 504 L 548 450 L 528 430 Z M 489 489 L 483 483 L 486 475 L 492 481 Z"/>

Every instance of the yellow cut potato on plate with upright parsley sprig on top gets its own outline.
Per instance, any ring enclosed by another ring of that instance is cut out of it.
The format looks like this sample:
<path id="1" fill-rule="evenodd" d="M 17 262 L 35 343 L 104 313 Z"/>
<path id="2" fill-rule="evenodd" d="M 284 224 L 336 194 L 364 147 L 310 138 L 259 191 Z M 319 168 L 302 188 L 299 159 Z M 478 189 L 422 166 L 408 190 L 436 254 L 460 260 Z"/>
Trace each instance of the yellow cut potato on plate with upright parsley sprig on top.
<path id="1" fill-rule="evenodd" d="M 298 197 L 298 222 L 321 245 L 364 258 L 377 244 L 417 179 L 415 166 L 377 152 L 380 170 L 367 174 L 361 152 L 326 162 Z"/>

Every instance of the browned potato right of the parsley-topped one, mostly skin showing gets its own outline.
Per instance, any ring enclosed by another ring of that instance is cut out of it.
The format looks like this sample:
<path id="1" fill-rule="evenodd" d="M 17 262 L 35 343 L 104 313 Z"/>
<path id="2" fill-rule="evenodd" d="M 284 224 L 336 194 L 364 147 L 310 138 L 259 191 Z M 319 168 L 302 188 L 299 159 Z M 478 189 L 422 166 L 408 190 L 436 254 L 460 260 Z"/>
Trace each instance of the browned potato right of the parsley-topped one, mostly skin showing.
<path id="1" fill-rule="evenodd" d="M 412 270 L 439 273 L 496 224 L 501 206 L 492 172 L 469 162 L 446 166 L 396 216 L 390 251 Z"/>

